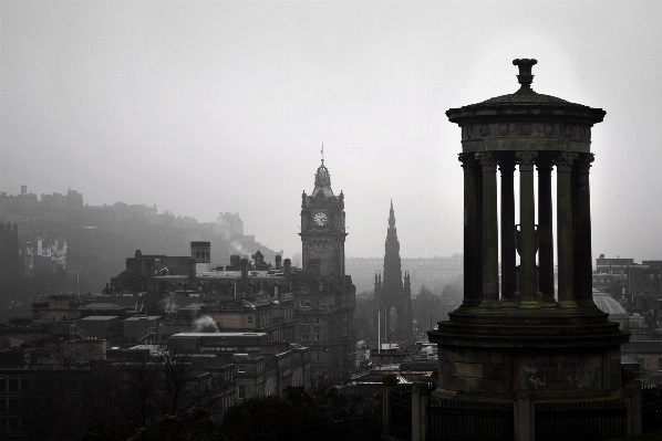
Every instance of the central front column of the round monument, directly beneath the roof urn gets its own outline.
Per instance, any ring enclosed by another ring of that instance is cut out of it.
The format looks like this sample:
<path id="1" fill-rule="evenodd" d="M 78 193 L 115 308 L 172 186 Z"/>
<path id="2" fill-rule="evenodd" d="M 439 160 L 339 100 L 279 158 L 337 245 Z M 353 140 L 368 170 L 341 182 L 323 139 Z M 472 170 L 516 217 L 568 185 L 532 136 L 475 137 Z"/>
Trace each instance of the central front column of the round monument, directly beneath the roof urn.
<path id="1" fill-rule="evenodd" d="M 515 154 L 519 164 L 519 307 L 537 308 L 535 151 Z"/>

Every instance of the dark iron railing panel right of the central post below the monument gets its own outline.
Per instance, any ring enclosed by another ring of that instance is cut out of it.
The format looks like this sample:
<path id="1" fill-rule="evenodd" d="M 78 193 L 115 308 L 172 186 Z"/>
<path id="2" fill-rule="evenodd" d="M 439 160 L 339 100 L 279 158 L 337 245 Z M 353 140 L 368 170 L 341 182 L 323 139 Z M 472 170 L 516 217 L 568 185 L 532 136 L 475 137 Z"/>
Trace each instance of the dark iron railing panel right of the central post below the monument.
<path id="1" fill-rule="evenodd" d="M 622 400 L 535 403 L 536 441 L 607 440 L 628 433 Z"/>

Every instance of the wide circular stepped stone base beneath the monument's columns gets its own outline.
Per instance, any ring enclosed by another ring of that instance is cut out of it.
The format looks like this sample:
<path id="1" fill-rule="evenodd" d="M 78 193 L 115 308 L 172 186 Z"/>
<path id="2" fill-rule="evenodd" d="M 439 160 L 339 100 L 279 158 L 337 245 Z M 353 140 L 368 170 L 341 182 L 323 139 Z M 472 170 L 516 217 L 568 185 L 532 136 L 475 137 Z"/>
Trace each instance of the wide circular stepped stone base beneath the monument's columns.
<path id="1" fill-rule="evenodd" d="M 449 318 L 428 332 L 439 359 L 431 406 L 446 409 L 445 418 L 455 409 L 457 430 L 492 424 L 504 437 L 480 437 L 517 440 L 575 439 L 578 427 L 628 433 L 620 346 L 630 333 L 597 307 L 461 307 Z M 470 409 L 492 419 L 465 418 Z M 432 430 L 448 424 L 433 422 Z M 437 435 L 454 435 L 444 433 Z M 582 439 L 607 439 L 593 435 Z"/>

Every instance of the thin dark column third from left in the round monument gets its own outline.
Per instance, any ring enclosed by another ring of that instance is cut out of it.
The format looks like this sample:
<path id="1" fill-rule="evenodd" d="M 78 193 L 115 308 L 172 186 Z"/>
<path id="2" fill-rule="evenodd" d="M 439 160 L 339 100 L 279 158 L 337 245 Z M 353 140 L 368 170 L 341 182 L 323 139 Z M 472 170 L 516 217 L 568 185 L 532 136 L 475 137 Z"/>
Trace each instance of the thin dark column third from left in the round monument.
<path id="1" fill-rule="evenodd" d="M 513 302 L 517 282 L 515 267 L 515 157 L 511 153 L 499 155 L 501 170 L 501 300 Z"/>

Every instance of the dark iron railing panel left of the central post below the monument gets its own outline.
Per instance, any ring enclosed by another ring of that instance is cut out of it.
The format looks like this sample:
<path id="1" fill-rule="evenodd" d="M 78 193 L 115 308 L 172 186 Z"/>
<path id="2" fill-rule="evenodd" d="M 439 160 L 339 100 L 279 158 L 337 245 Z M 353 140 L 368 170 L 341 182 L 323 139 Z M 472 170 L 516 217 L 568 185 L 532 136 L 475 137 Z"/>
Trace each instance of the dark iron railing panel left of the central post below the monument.
<path id="1" fill-rule="evenodd" d="M 515 439 L 511 402 L 432 398 L 426 408 L 427 440 L 510 441 Z"/>

